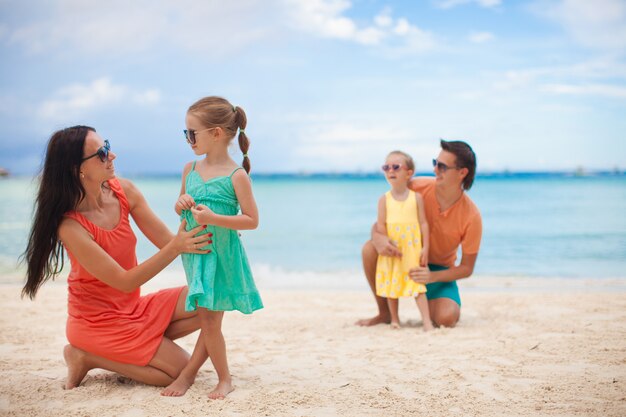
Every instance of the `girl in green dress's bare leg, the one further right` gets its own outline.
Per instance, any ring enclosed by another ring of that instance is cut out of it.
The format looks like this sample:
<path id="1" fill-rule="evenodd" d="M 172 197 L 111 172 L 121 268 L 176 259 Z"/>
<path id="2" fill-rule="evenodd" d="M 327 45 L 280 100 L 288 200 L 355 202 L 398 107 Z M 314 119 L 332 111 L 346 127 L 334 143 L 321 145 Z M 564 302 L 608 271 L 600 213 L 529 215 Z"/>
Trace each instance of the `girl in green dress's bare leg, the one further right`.
<path id="1" fill-rule="evenodd" d="M 222 335 L 224 312 L 199 308 L 198 316 L 200 317 L 204 345 L 218 378 L 217 385 L 213 391 L 209 392 L 209 398 L 213 400 L 223 399 L 235 389 L 228 369 L 226 342 L 224 335 Z"/>

